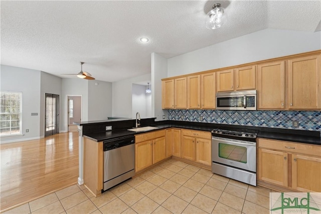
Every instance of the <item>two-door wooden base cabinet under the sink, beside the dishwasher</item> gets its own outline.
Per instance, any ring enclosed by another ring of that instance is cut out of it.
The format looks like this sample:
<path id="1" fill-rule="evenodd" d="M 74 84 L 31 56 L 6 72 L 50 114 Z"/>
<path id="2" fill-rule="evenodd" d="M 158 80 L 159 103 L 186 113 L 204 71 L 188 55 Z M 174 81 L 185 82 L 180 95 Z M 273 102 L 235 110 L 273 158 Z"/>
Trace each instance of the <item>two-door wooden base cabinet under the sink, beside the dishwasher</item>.
<path id="1" fill-rule="evenodd" d="M 166 158 L 166 130 L 135 135 L 135 172 Z"/>

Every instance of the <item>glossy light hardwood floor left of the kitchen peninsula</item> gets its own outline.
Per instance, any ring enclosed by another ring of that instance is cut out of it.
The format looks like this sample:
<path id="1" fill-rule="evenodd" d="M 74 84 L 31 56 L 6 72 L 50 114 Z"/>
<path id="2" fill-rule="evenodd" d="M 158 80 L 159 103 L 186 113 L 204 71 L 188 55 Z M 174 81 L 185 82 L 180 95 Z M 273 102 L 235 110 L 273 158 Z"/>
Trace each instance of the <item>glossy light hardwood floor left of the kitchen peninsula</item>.
<path id="1" fill-rule="evenodd" d="M 77 183 L 78 132 L 0 144 L 0 210 Z"/>

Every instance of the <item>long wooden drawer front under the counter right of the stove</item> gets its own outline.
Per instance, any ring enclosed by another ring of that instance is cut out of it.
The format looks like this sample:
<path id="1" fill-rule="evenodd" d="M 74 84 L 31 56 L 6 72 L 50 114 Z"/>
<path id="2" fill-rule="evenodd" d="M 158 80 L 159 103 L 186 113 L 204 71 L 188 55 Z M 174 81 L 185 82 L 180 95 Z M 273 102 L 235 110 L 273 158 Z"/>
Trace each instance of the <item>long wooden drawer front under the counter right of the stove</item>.
<path id="1" fill-rule="evenodd" d="M 288 141 L 259 138 L 258 147 L 321 157 L 321 146 L 306 143 L 292 143 Z"/>

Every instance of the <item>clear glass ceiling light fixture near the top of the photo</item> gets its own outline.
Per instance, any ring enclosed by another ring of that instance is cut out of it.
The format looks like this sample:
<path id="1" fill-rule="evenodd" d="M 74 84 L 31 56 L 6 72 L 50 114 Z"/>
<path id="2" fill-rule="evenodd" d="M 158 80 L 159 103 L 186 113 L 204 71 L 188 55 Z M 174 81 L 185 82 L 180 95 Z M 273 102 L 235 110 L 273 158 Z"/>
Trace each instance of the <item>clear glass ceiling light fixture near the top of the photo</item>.
<path id="1" fill-rule="evenodd" d="M 227 21 L 227 15 L 224 13 L 224 8 L 221 8 L 221 4 L 213 5 L 211 10 L 206 15 L 206 28 L 207 29 L 218 29 L 224 25 Z"/>

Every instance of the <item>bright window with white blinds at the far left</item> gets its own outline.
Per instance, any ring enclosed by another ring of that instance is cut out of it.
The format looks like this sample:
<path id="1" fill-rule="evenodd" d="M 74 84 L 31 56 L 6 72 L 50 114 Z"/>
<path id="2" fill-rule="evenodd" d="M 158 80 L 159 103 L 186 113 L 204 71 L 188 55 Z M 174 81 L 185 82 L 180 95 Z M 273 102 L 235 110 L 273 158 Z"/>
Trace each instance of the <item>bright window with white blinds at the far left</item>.
<path id="1" fill-rule="evenodd" d="M 22 134 L 22 92 L 1 92 L 0 136 Z"/>

